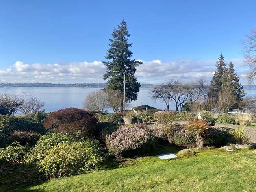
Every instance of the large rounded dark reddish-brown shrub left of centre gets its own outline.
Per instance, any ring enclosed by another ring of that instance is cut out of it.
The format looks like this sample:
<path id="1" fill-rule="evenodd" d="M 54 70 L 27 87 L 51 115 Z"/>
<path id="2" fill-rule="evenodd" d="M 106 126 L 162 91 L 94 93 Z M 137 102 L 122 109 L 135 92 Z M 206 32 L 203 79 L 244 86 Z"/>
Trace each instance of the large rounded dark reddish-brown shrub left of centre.
<path id="1" fill-rule="evenodd" d="M 97 137 L 97 119 L 93 113 L 76 108 L 67 108 L 49 114 L 44 122 L 45 129 L 54 133 L 67 133 L 76 139 Z"/>

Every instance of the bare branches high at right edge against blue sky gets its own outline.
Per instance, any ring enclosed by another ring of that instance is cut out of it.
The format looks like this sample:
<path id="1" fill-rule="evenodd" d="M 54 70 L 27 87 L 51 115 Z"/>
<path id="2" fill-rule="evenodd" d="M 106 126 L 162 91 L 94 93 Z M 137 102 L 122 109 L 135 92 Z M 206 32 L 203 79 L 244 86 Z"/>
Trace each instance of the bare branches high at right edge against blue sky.
<path id="1" fill-rule="evenodd" d="M 243 44 L 242 53 L 245 66 L 249 67 L 249 72 L 246 74 L 247 81 L 253 84 L 256 76 L 256 28 L 249 35 L 245 35 L 241 44 Z"/>

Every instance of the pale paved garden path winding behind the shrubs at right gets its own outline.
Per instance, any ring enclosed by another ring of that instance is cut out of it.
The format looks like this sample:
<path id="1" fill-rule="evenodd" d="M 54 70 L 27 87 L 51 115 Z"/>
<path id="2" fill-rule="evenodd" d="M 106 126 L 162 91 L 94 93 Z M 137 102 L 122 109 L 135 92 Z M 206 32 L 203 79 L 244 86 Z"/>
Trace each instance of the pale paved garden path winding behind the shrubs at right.
<path id="1" fill-rule="evenodd" d="M 180 124 L 187 124 L 188 122 L 187 121 L 176 121 L 177 123 L 180 123 Z M 148 124 L 149 127 L 154 127 L 154 126 L 157 126 L 157 124 L 154 124 L 154 123 L 150 123 Z M 231 129 L 237 129 L 236 125 L 230 125 L 230 124 L 220 124 L 220 123 L 215 123 L 215 126 L 217 127 L 223 127 L 223 128 L 231 128 Z M 245 132 L 248 133 L 247 137 L 249 138 L 250 142 L 252 142 L 253 144 L 256 145 L 256 133 L 254 131 L 255 129 L 253 128 L 249 128 L 249 127 L 246 127 L 245 128 Z"/>

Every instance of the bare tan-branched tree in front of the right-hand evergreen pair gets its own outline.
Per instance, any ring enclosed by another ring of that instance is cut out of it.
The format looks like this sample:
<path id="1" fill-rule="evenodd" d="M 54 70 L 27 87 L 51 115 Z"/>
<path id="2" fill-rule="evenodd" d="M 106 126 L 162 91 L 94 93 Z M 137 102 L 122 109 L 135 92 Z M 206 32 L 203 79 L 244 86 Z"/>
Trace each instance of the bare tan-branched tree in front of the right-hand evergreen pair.
<path id="1" fill-rule="evenodd" d="M 217 105 L 220 113 L 227 113 L 228 109 L 235 104 L 235 96 L 230 91 L 219 92 L 218 98 Z"/>

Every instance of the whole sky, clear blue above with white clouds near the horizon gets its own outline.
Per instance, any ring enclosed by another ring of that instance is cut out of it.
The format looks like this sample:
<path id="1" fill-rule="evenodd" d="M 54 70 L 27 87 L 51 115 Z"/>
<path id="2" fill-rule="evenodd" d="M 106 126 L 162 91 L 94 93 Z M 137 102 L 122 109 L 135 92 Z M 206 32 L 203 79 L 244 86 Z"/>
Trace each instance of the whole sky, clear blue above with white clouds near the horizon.
<path id="1" fill-rule="evenodd" d="M 244 35 L 254 0 L 0 0 L 0 83 L 104 82 L 106 50 L 124 19 L 141 83 L 191 81 L 215 71 L 222 52 L 244 84 Z"/>

